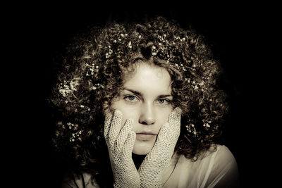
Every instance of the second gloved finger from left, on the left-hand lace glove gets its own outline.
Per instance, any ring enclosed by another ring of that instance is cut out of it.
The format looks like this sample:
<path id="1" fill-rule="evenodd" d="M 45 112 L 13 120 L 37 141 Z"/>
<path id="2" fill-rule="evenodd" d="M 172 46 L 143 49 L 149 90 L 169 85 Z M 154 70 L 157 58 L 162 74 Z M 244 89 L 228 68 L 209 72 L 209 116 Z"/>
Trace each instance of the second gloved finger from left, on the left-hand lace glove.
<path id="1" fill-rule="evenodd" d="M 121 111 L 114 111 L 114 117 L 112 118 L 111 125 L 109 127 L 109 144 L 111 144 L 111 146 L 114 146 L 114 142 L 116 141 L 116 138 L 118 137 L 118 134 L 121 131 L 122 118 L 123 115 Z"/>

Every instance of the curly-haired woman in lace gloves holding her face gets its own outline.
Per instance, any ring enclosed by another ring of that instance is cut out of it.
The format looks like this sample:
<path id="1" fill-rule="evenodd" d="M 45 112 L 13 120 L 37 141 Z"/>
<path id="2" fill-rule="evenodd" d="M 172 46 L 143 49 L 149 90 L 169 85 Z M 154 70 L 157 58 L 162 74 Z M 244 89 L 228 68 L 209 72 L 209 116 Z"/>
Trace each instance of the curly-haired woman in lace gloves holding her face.
<path id="1" fill-rule="evenodd" d="M 158 17 L 92 28 L 68 46 L 51 104 L 63 187 L 236 187 L 219 145 L 225 95 L 204 39 Z"/>

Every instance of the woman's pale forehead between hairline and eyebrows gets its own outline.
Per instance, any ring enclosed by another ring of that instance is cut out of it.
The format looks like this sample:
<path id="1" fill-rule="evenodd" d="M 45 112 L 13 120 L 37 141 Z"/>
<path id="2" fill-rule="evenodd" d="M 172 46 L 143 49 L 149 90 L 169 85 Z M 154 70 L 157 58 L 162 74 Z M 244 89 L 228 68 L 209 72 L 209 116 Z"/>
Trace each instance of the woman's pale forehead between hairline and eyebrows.
<path id="1" fill-rule="evenodd" d="M 147 94 L 170 94 L 171 76 L 157 65 L 136 63 L 134 71 L 125 75 L 123 87 Z"/>

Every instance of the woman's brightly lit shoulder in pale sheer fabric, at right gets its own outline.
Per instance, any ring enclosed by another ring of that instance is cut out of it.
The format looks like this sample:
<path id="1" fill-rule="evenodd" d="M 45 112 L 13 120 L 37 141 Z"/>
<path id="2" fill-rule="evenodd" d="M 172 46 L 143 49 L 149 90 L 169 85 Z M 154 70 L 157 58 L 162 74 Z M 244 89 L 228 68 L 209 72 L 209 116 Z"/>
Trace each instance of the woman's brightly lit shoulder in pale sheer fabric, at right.
<path id="1" fill-rule="evenodd" d="M 179 156 L 176 171 L 179 183 L 186 182 L 190 187 L 238 187 L 237 163 L 223 145 L 211 147 L 197 161 Z"/>

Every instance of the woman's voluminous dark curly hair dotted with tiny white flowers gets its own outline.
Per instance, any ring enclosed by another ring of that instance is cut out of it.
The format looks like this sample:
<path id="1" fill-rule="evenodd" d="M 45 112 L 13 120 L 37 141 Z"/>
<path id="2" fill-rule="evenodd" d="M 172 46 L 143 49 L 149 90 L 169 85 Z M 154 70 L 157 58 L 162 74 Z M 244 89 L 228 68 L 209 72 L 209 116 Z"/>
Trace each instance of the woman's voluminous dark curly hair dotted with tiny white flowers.
<path id="1" fill-rule="evenodd" d="M 228 106 L 219 87 L 219 62 L 204 37 L 163 17 L 111 23 L 75 37 L 49 101 L 56 113 L 53 143 L 80 170 L 102 175 L 107 147 L 104 111 L 137 61 L 152 61 L 171 75 L 173 106 L 183 110 L 175 150 L 197 160 L 219 142 Z"/>

